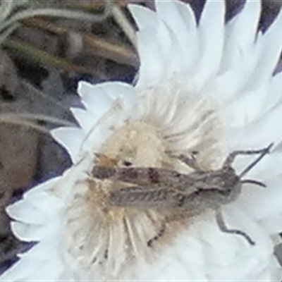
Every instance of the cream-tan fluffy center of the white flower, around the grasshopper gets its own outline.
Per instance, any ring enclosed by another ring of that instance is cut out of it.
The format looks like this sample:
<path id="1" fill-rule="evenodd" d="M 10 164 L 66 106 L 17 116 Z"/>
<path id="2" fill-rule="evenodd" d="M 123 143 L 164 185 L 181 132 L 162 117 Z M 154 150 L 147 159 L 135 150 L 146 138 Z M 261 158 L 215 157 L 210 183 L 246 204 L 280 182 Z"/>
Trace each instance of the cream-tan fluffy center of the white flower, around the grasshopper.
<path id="1" fill-rule="evenodd" d="M 221 121 L 210 99 L 199 99 L 172 84 L 145 90 L 140 100 L 135 116 L 104 142 L 94 166 L 193 171 L 180 161 L 180 154 L 196 156 L 202 169 L 221 166 Z M 109 202 L 112 191 L 142 189 L 142 185 L 91 176 L 86 183 L 75 185 L 67 228 L 73 234 L 69 252 L 80 258 L 79 267 L 87 266 L 90 278 L 97 277 L 99 270 L 108 278 L 121 278 L 130 264 L 152 261 L 191 222 L 191 215 L 173 207 L 127 207 Z M 158 187 L 165 184 L 158 183 Z"/>

